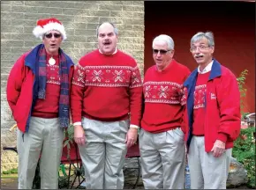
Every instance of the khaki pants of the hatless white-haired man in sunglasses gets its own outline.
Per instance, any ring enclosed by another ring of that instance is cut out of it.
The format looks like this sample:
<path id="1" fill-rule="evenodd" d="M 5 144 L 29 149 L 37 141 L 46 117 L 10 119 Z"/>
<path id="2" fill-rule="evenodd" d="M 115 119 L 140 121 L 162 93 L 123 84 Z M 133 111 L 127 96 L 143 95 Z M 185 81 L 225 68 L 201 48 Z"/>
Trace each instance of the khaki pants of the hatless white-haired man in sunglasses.
<path id="1" fill-rule="evenodd" d="M 185 145 L 180 128 L 139 132 L 142 180 L 146 189 L 184 189 Z"/>

